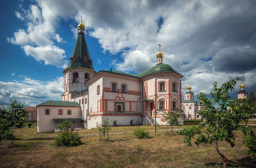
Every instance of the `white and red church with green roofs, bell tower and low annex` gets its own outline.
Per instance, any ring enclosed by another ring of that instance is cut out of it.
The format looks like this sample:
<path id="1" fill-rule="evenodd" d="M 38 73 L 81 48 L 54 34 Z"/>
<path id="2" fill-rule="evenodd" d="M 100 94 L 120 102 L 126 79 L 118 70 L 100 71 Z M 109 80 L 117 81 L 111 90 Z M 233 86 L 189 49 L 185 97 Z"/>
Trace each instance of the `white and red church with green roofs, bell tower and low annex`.
<path id="1" fill-rule="evenodd" d="M 61 101 L 48 101 L 37 105 L 37 131 L 59 131 L 59 123 L 69 119 L 71 129 L 92 129 L 107 118 L 110 126 L 165 125 L 164 112 L 185 104 L 195 105 L 191 87 L 181 102 L 181 74 L 170 65 L 163 64 L 163 54 L 157 53 L 157 64 L 139 74 L 110 69 L 96 72 L 86 44 L 85 26 L 78 25 L 78 39 L 69 65 L 64 69 L 64 94 Z M 200 109 L 197 109 L 200 110 Z M 191 112 L 192 114 L 192 112 Z M 197 116 L 197 115 L 196 115 Z M 181 125 L 183 119 L 179 118 Z"/>

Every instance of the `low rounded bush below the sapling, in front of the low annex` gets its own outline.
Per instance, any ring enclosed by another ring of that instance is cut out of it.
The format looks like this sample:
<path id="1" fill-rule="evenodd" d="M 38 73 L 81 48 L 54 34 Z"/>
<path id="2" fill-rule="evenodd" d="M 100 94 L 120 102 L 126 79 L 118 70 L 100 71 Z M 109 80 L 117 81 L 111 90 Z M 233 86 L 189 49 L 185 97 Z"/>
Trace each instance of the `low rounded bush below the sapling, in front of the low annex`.
<path id="1" fill-rule="evenodd" d="M 69 133 L 61 132 L 54 142 L 57 146 L 77 146 L 81 143 L 81 137 L 78 137 L 78 132 L 73 133 L 72 131 Z"/>

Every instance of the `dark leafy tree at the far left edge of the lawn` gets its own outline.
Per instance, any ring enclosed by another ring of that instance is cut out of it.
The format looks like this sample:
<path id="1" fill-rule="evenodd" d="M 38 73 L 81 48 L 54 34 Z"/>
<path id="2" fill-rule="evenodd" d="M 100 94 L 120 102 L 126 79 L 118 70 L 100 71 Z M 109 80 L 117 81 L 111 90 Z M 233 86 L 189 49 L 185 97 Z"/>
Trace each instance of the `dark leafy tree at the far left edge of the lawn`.
<path id="1" fill-rule="evenodd" d="M 12 126 L 16 126 L 19 129 L 24 126 L 26 121 L 25 107 L 24 103 L 20 103 L 17 100 L 11 100 L 11 103 L 7 106 L 0 106 L 0 141 L 2 136 L 4 136 L 3 139 L 9 137 L 7 133 Z"/>

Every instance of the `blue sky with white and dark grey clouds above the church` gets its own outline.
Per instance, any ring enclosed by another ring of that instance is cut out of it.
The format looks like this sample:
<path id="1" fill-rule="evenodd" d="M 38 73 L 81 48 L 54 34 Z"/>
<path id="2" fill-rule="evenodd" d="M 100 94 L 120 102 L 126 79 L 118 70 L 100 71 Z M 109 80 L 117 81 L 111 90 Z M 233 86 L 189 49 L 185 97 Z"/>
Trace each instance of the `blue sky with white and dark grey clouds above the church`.
<path id="1" fill-rule="evenodd" d="M 94 69 L 139 73 L 163 62 L 195 97 L 236 77 L 256 85 L 256 1 L 0 1 L 0 104 L 61 100 L 80 16 Z M 236 98 L 238 82 L 230 95 Z"/>

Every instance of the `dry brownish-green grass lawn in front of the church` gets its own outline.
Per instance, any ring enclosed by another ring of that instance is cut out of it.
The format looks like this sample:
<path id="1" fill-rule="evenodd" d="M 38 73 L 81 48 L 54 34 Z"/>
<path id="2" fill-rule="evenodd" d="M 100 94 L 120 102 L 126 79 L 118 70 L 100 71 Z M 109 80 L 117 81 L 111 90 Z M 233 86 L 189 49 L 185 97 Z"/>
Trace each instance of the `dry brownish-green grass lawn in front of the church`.
<path id="1" fill-rule="evenodd" d="M 116 126 L 110 132 L 136 128 L 154 130 L 154 126 Z M 256 131 L 256 127 L 252 128 Z M 0 167 L 222 167 L 214 145 L 187 147 L 183 136 L 166 134 L 160 129 L 166 127 L 157 127 L 157 134 L 150 132 L 150 138 L 143 140 L 131 133 L 110 134 L 109 142 L 99 142 L 98 136 L 83 136 L 83 144 L 78 147 L 54 146 L 56 133 L 37 134 L 36 128 L 13 129 L 15 145 L 9 148 L 0 145 Z M 78 131 L 78 134 L 96 133 L 97 129 Z M 236 136 L 234 148 L 219 142 L 219 150 L 229 160 L 227 166 L 254 167 L 256 159 L 246 153 L 243 134 L 237 132 Z"/>

